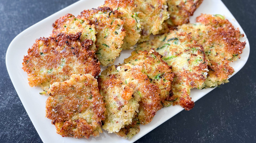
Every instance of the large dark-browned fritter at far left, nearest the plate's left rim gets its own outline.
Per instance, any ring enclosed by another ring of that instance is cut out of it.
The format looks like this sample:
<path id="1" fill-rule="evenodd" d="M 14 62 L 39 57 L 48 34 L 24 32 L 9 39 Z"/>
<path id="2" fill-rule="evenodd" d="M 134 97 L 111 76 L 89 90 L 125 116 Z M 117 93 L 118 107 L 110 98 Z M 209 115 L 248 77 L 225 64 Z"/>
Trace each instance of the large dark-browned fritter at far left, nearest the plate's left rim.
<path id="1" fill-rule="evenodd" d="M 39 38 L 23 59 L 23 70 L 28 73 L 29 85 L 48 89 L 54 82 L 68 80 L 72 74 L 100 73 L 95 51 L 90 51 L 92 40 L 80 42 L 81 33 L 58 34 Z"/>

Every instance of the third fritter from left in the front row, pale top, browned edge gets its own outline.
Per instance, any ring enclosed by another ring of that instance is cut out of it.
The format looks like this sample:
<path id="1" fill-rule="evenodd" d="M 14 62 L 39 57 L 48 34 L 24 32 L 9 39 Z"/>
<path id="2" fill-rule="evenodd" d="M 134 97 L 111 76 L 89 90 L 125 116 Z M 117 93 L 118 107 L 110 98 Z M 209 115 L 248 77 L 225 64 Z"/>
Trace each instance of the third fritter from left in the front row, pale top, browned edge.
<path id="1" fill-rule="evenodd" d="M 156 112 L 161 109 L 160 88 L 150 83 L 149 78 L 142 72 L 143 67 L 123 64 L 110 69 L 123 83 L 133 89 L 134 97 L 140 97 L 138 119 L 141 124 L 149 123 Z"/>

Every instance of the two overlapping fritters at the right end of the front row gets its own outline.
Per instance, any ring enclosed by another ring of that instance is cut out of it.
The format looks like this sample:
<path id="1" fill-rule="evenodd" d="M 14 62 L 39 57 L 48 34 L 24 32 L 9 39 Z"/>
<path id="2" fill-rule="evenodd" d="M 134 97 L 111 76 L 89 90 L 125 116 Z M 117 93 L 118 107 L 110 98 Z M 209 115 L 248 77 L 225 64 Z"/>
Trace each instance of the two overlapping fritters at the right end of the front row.
<path id="1" fill-rule="evenodd" d="M 186 110 L 194 107 L 190 89 L 228 82 L 228 75 L 234 72 L 228 63 L 240 58 L 245 48 L 245 42 L 239 41 L 243 35 L 223 16 L 204 14 L 197 21 L 200 23 L 183 24 L 137 47 L 137 50 L 155 49 L 173 66 L 173 104 L 179 103 Z"/>

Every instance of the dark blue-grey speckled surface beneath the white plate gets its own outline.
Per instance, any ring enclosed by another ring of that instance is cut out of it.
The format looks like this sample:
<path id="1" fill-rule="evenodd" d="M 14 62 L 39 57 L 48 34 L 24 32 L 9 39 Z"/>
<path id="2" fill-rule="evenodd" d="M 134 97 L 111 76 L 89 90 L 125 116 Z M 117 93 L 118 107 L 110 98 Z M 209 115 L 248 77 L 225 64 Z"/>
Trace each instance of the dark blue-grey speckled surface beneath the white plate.
<path id="1" fill-rule="evenodd" d="M 5 55 L 11 40 L 31 25 L 77 0 L 0 0 L 0 142 L 42 142 L 8 75 Z M 250 56 L 230 83 L 214 89 L 137 143 L 256 142 L 256 1 L 222 0 L 243 27 Z"/>

